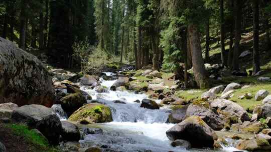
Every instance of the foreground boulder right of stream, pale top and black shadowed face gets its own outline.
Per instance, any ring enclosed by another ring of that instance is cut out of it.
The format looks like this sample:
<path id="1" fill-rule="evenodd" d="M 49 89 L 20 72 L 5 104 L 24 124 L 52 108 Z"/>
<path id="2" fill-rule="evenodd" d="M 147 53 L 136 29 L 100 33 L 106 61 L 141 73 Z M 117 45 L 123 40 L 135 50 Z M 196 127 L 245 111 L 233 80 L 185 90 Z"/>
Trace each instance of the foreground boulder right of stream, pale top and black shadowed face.
<path id="1" fill-rule="evenodd" d="M 199 116 L 190 116 L 166 132 L 170 140 L 187 140 L 192 147 L 213 147 L 217 139 L 215 131 Z"/>

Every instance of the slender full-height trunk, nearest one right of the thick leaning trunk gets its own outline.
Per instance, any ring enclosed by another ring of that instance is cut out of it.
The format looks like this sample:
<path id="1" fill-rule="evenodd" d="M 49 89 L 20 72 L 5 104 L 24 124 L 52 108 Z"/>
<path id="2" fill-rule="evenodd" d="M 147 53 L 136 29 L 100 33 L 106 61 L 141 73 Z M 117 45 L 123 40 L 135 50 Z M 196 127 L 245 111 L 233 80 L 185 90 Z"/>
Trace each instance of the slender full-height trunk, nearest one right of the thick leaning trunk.
<path id="1" fill-rule="evenodd" d="M 220 0 L 220 41 L 221 41 L 221 64 L 227 66 L 225 54 L 225 19 L 224 19 L 224 0 Z"/>

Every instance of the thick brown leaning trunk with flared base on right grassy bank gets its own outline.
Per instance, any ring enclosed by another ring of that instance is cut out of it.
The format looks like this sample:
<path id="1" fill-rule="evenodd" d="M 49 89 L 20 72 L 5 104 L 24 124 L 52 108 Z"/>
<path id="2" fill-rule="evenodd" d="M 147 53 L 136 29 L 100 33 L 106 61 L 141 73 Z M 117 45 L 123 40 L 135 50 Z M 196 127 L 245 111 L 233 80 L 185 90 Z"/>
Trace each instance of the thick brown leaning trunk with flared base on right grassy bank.
<path id="1" fill-rule="evenodd" d="M 202 58 L 198 28 L 195 24 L 190 23 L 188 30 L 195 80 L 200 88 L 207 88 L 209 86 L 208 77 Z"/>

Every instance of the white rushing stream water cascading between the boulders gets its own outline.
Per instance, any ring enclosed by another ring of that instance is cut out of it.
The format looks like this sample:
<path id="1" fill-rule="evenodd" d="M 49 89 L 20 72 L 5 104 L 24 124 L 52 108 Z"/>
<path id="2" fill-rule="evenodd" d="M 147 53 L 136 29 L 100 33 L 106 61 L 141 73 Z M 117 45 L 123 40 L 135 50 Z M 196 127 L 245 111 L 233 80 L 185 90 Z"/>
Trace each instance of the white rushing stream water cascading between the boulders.
<path id="1" fill-rule="evenodd" d="M 106 73 L 110 75 L 111 73 Z M 110 88 L 116 80 L 105 81 L 100 79 L 101 85 Z M 81 147 L 102 146 L 116 151 L 235 151 L 237 149 L 224 146 L 221 150 L 210 149 L 183 149 L 172 147 L 166 136 L 166 131 L 174 124 L 166 123 L 170 109 L 157 110 L 141 108 L 135 100 L 147 98 L 146 94 L 136 94 L 128 91 L 111 91 L 98 93 L 87 86 L 81 89 L 88 92 L 93 100 L 88 102 L 100 102 L 110 107 L 113 121 L 108 123 L 89 124 L 83 127 L 102 128 L 102 134 L 88 134 L 84 140 L 80 140 Z M 126 104 L 113 103 L 113 100 L 121 100 Z M 159 102 L 159 100 L 157 100 Z M 59 107 L 59 105 L 57 106 Z M 61 107 L 61 106 L 60 106 Z M 63 117 L 62 117 L 63 118 Z"/>

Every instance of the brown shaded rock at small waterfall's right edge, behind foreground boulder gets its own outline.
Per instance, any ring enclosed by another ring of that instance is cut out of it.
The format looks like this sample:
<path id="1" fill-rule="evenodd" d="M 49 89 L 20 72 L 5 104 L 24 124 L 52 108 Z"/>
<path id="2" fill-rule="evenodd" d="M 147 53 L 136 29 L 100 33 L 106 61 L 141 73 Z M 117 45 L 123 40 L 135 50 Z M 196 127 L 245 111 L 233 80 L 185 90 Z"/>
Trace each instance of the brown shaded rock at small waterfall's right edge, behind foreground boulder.
<path id="1" fill-rule="evenodd" d="M 186 109 L 188 106 L 185 105 L 178 105 L 175 106 L 170 115 L 169 115 L 169 122 L 170 123 L 180 123 L 184 120 L 185 114 L 186 114 Z"/>

